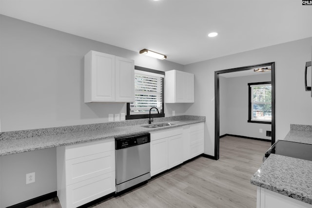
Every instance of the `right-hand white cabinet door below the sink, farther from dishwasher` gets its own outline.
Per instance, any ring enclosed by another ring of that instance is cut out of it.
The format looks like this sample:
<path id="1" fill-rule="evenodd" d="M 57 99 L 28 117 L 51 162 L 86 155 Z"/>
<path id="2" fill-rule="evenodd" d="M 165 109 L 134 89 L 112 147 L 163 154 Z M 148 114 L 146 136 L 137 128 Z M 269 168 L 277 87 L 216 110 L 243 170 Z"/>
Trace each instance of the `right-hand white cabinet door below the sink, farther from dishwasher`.
<path id="1" fill-rule="evenodd" d="M 183 135 L 168 138 L 168 169 L 183 163 Z"/>

